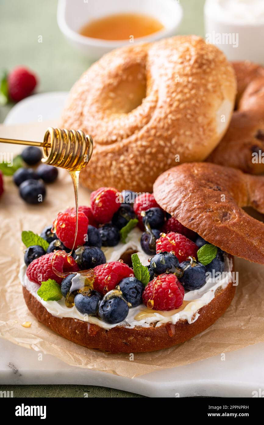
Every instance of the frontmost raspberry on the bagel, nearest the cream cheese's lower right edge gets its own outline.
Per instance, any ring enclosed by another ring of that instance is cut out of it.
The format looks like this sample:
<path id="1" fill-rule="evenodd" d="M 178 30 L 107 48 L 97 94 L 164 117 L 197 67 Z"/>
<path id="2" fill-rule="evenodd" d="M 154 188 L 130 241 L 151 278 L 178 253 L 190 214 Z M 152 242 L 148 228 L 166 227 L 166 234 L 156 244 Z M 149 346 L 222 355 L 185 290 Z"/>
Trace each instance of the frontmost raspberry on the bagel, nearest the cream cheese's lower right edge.
<path id="1" fill-rule="evenodd" d="M 175 275 L 159 275 L 145 287 L 142 300 L 153 310 L 169 311 L 178 309 L 183 303 L 184 289 Z"/>

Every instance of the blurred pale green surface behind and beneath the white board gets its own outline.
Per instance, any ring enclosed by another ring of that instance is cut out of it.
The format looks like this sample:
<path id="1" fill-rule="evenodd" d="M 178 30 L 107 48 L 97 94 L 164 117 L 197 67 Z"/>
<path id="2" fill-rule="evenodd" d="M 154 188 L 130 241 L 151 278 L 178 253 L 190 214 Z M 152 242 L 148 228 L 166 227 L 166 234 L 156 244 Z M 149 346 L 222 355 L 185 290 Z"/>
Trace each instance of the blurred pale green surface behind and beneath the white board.
<path id="1" fill-rule="evenodd" d="M 181 34 L 203 35 L 204 1 L 181 0 Z M 55 0 L 0 2 L 0 69 L 9 71 L 17 65 L 27 66 L 38 76 L 38 93 L 68 91 L 91 65 L 89 58 L 65 40 L 58 28 L 56 13 Z M 42 35 L 42 43 L 38 42 L 39 35 Z M 0 122 L 12 106 L 0 106 Z M 14 397 L 83 397 L 84 392 L 88 392 L 89 397 L 142 397 L 89 385 L 1 385 L 0 389 L 14 391 Z"/>

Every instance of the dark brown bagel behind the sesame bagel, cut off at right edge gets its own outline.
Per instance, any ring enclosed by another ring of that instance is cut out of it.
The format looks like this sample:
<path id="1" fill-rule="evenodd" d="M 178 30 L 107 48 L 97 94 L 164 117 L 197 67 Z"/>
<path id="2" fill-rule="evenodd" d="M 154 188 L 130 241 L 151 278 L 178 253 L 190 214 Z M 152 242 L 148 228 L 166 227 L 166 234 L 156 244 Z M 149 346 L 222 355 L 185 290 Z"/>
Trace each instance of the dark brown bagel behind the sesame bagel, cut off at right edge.
<path id="1" fill-rule="evenodd" d="M 264 173 L 264 67 L 251 62 L 233 63 L 237 77 L 236 110 L 209 162 Z M 262 162 L 263 161 L 263 162 Z"/>

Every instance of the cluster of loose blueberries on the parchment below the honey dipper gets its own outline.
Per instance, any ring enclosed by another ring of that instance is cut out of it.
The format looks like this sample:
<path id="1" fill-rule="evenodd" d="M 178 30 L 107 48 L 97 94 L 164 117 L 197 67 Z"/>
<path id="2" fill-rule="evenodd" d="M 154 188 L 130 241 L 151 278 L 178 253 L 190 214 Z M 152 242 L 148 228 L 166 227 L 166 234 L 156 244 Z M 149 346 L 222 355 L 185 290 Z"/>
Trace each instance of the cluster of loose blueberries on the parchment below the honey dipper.
<path id="1" fill-rule="evenodd" d="M 42 158 L 41 150 L 35 146 L 26 147 L 21 153 L 22 159 L 28 165 L 36 165 Z M 41 164 L 36 170 L 19 168 L 13 176 L 14 183 L 19 187 L 19 195 L 28 204 L 38 204 L 46 197 L 44 183 L 53 183 L 58 177 L 58 170 L 51 165 Z"/>

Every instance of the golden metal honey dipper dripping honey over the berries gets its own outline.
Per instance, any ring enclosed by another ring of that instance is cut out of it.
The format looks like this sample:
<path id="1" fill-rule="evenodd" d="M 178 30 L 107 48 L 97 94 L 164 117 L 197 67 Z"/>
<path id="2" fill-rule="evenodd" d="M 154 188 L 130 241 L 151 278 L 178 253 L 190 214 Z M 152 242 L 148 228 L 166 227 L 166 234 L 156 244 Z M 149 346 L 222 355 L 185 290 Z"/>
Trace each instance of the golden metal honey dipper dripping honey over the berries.
<path id="1" fill-rule="evenodd" d="M 85 167 L 93 150 L 92 137 L 86 136 L 82 130 L 61 130 L 53 127 L 47 128 L 43 142 L 3 138 L 0 138 L 0 142 L 42 147 L 44 164 L 66 168 L 68 171 L 80 171 Z"/>

